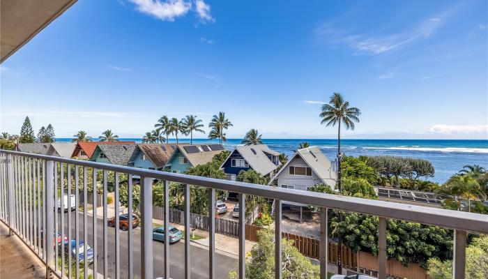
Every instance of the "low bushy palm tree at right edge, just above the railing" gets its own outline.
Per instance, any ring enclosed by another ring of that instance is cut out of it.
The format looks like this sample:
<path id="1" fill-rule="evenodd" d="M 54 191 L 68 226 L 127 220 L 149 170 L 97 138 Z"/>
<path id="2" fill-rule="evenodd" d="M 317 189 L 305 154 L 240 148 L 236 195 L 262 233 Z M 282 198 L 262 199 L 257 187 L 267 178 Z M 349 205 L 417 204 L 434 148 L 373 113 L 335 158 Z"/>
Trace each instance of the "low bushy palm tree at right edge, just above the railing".
<path id="1" fill-rule="evenodd" d="M 457 210 L 461 209 L 461 200 L 468 200 L 468 211 L 471 212 L 472 199 L 486 199 L 487 195 L 483 193 L 480 183 L 470 176 L 455 175 L 452 176 L 445 185 L 437 190 L 437 195 L 447 196 L 444 202 L 454 202 Z"/>

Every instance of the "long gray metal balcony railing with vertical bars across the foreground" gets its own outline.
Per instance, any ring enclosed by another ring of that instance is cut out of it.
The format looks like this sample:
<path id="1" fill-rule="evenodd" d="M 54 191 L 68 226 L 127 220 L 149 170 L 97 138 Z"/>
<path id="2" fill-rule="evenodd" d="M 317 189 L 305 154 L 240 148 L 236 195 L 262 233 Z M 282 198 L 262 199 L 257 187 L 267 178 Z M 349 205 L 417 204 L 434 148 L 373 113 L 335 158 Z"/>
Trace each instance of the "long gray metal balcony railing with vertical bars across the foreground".
<path id="1" fill-rule="evenodd" d="M 142 278 L 154 278 L 153 264 L 153 241 L 152 241 L 152 183 L 153 179 L 164 181 L 165 184 L 165 224 L 169 223 L 169 182 L 182 183 L 185 188 L 185 278 L 190 278 L 190 186 L 203 186 L 209 189 L 208 200 L 210 212 L 209 223 L 209 249 L 208 249 L 208 278 L 215 277 L 215 190 L 228 190 L 239 195 L 239 252 L 238 252 L 238 274 L 239 278 L 245 278 L 245 195 L 257 195 L 275 199 L 275 278 L 281 278 L 281 204 L 283 201 L 310 204 L 321 208 L 321 247 L 320 264 L 321 278 L 327 278 L 327 246 L 328 246 L 328 227 L 327 209 L 340 209 L 344 211 L 354 211 L 372 216 L 379 216 L 379 278 L 386 278 L 386 220 L 388 218 L 407 220 L 415 223 L 427 225 L 437 225 L 455 229 L 454 234 L 454 255 L 452 278 L 464 278 L 465 259 L 466 259 L 466 236 L 468 232 L 488 233 L 488 216 L 467 213 L 460 211 L 450 211 L 445 209 L 435 209 L 424 206 L 410 204 L 399 204 L 394 202 L 383 202 L 379 200 L 360 199 L 356 197 L 345 197 L 338 195 L 328 195 L 323 193 L 311 193 L 303 190 L 292 190 L 263 186 L 238 181 L 228 181 L 221 179 L 211 179 L 200 176 L 190 176 L 185 174 L 174 174 L 170 172 L 160 172 L 146 170 L 135 167 L 125 167 L 119 165 L 109 165 L 104 163 L 94 163 L 84 160 L 74 160 L 54 156 L 43 156 L 31 153 L 20 153 L 15 151 L 0 151 L 0 220 L 10 228 L 10 233 L 17 234 L 26 246 L 38 255 L 45 263 L 48 273 L 53 273 L 59 278 L 71 278 L 71 273 L 64 271 L 64 257 L 61 257 L 61 269 L 57 264 L 58 259 L 58 238 L 48 232 L 56 232 L 61 229 L 61 236 L 68 230 L 68 239 L 73 236 L 73 220 L 68 214 L 68 224 L 65 224 L 64 214 L 58 214 L 54 209 L 54 202 L 58 200 L 59 188 L 64 188 L 65 172 L 68 181 L 68 197 L 71 195 L 73 187 L 72 176 L 74 175 L 75 189 L 75 240 L 78 251 L 80 233 L 83 232 L 83 240 L 88 241 L 91 236 L 94 255 L 93 258 L 93 278 L 102 274 L 104 278 L 109 276 L 108 259 L 108 228 L 107 228 L 107 172 L 114 172 L 115 186 L 115 224 L 119 224 L 119 179 L 118 174 L 128 175 L 128 208 L 132 209 L 132 176 L 141 178 L 141 271 Z M 74 174 L 72 173 L 74 169 Z M 91 232 L 87 225 L 89 218 L 86 210 L 88 201 L 87 181 L 89 169 L 93 169 L 93 213 L 91 217 Z M 97 253 L 98 253 L 98 230 L 97 230 L 97 172 L 102 170 L 102 204 L 103 206 L 103 272 L 98 273 Z M 81 173 L 80 173 L 81 172 Z M 58 177 L 61 176 L 61 177 Z M 83 177 L 83 228 L 80 227 L 79 220 L 79 178 Z M 62 185 L 58 185 L 62 181 Z M 64 192 L 61 191 L 63 194 Z M 63 194 L 64 195 L 64 194 Z M 64 199 L 61 197 L 61 208 Z M 68 202 L 70 199 L 68 198 Z M 132 211 L 129 210 L 128 228 L 128 277 L 134 278 L 134 231 L 132 228 Z M 61 220 L 58 220 L 61 219 Z M 59 222 L 60 221 L 60 222 Z M 61 226 L 59 226 L 61 225 Z M 55 229 L 56 228 L 56 229 Z M 170 277 L 169 268 L 169 226 L 165 225 L 165 252 L 164 252 L 164 277 Z M 41 231 L 42 230 L 42 231 Z M 43 237 L 40 237 L 43 236 Z M 62 237 L 61 237 L 62 239 Z M 115 229 L 115 271 L 114 278 L 120 278 L 120 233 Z M 50 245 L 55 243 L 55 246 Z M 84 245 L 84 255 L 86 255 L 86 245 Z M 85 256 L 86 257 L 86 256 Z M 85 258 L 86 259 L 86 258 Z M 68 266 L 73 259 L 68 253 Z M 84 260 L 84 278 L 88 276 L 87 261 Z M 79 257 L 75 259 L 76 266 L 79 266 Z M 79 278 L 79 269 L 76 269 L 76 278 Z"/>

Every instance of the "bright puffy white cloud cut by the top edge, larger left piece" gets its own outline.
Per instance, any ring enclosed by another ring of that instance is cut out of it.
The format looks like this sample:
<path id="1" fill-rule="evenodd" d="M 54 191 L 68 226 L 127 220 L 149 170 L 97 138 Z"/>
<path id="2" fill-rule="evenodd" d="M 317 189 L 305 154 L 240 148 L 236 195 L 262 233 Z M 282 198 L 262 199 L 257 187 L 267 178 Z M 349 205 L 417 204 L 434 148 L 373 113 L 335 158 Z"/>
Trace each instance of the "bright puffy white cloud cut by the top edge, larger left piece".
<path id="1" fill-rule="evenodd" d="M 136 9 L 146 15 L 152 15 L 159 20 L 172 22 L 176 17 L 186 15 L 192 8 L 192 3 L 184 0 L 130 0 Z"/>

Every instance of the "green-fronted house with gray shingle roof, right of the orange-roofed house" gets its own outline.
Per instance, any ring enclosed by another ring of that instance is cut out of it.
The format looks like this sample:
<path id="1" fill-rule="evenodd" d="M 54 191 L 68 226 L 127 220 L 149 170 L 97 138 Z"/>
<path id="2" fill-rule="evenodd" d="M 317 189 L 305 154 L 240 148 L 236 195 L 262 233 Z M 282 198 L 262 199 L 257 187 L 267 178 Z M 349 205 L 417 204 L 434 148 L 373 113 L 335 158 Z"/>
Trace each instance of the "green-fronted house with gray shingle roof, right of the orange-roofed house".
<path id="1" fill-rule="evenodd" d="M 98 144 L 90 160 L 114 165 L 128 165 L 135 144 Z"/>

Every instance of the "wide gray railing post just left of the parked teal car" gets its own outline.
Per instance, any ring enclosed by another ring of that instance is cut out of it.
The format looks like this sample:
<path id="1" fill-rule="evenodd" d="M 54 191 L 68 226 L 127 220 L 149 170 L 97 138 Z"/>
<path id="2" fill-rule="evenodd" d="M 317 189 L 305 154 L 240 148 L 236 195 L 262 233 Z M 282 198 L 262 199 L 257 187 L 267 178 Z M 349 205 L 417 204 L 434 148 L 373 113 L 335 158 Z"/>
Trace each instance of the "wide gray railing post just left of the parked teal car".
<path id="1" fill-rule="evenodd" d="M 153 179 L 142 178 L 142 278 L 153 279 Z"/>

